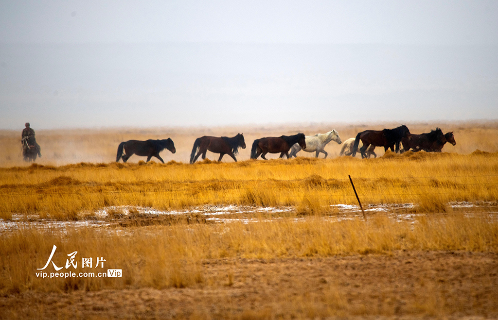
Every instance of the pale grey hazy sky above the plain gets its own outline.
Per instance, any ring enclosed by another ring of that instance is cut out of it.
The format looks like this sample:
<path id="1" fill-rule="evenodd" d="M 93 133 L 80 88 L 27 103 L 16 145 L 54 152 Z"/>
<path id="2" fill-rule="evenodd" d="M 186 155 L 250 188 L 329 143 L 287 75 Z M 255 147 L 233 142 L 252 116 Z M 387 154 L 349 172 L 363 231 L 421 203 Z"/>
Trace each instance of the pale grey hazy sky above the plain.
<path id="1" fill-rule="evenodd" d="M 0 129 L 497 119 L 498 1 L 0 0 Z"/>

